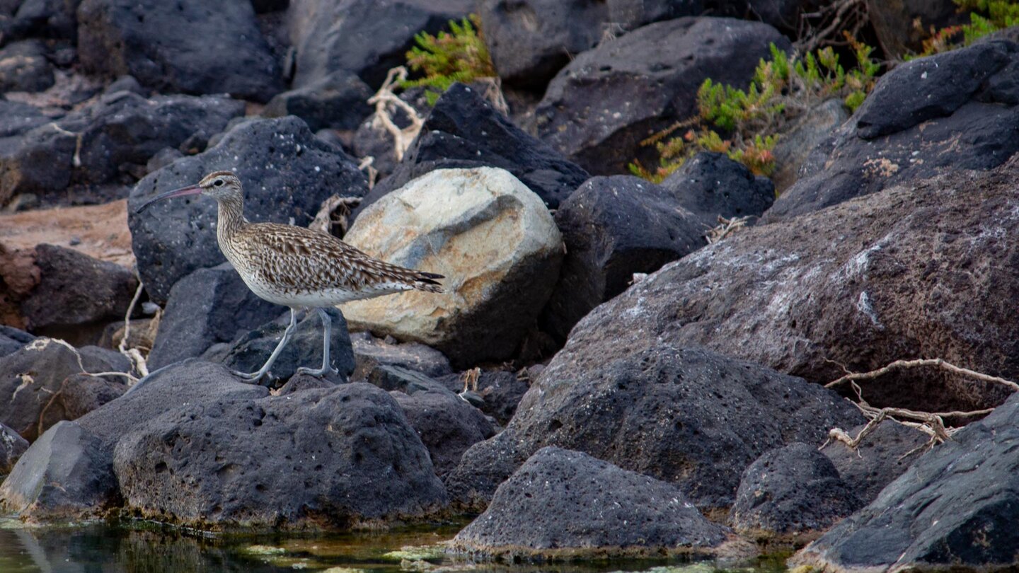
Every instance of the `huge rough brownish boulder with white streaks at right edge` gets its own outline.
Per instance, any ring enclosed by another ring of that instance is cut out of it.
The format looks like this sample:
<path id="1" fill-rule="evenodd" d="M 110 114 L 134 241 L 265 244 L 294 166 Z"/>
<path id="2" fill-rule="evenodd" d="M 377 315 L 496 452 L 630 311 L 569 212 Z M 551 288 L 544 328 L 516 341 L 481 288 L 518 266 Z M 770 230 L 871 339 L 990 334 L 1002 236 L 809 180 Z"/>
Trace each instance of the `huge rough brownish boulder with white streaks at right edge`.
<path id="1" fill-rule="evenodd" d="M 959 171 L 743 229 L 592 311 L 570 346 L 698 345 L 818 382 L 930 357 L 1015 379 L 1017 173 Z M 936 369 L 859 383 L 873 405 L 931 412 L 1007 397 Z"/>

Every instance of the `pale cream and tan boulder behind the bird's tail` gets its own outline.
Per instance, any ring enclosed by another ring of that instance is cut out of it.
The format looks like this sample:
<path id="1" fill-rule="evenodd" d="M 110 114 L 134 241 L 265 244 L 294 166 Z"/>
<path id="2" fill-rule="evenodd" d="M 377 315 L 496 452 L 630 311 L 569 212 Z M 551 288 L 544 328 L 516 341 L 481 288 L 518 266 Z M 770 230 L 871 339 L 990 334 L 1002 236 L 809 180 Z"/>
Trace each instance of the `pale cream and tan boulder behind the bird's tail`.
<path id="1" fill-rule="evenodd" d="M 341 305 L 354 329 L 416 341 L 455 365 L 513 356 L 548 299 L 562 240 L 541 199 L 502 169 L 440 169 L 372 204 L 345 240 L 445 275 L 444 293 Z"/>

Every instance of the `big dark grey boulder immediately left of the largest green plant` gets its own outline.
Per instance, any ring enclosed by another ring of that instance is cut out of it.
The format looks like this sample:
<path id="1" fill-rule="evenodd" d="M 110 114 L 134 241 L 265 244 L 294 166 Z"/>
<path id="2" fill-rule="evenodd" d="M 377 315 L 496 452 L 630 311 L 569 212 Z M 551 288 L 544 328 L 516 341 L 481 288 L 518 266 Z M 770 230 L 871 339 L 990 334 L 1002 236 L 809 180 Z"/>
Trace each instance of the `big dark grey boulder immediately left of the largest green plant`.
<path id="1" fill-rule="evenodd" d="M 535 110 L 538 137 L 594 174 L 626 172 L 648 153 L 641 141 L 696 113 L 705 79 L 745 88 L 771 43 L 790 47 L 767 24 L 730 18 L 637 29 L 559 70 Z"/>

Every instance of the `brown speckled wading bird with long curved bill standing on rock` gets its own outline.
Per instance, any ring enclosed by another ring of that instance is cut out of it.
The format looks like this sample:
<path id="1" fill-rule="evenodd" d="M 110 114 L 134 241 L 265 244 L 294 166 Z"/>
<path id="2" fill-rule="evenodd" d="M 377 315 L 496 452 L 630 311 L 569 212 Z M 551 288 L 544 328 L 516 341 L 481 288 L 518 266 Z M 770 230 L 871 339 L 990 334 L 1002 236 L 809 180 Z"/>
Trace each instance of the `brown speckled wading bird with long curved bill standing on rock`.
<path id="1" fill-rule="evenodd" d="M 256 296 L 290 309 L 290 323 L 265 364 L 255 372 L 232 372 L 243 380 L 256 382 L 269 372 L 293 334 L 300 309 L 318 311 L 323 346 L 322 367 L 301 367 L 298 372 L 323 376 L 338 373 L 329 364 L 332 320 L 325 308 L 405 291 L 442 293 L 439 279 L 445 277 L 441 274 L 381 261 L 320 230 L 249 221 L 245 218 L 244 188 L 232 171 L 213 171 L 197 185 L 157 195 L 136 212 L 142 213 L 157 201 L 187 195 L 216 200 L 219 250 Z"/>

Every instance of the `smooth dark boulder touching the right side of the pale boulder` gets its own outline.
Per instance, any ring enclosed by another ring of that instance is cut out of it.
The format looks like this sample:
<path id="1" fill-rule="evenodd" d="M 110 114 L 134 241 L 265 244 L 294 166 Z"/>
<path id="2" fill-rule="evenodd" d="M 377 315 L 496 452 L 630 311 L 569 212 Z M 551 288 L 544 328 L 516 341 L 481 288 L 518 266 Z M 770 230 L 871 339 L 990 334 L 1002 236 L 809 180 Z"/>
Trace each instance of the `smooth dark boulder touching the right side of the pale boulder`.
<path id="1" fill-rule="evenodd" d="M 632 175 L 588 179 L 555 211 L 566 255 L 542 312 L 558 340 L 594 307 L 704 245 L 707 229 L 665 189 Z"/>

